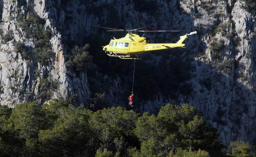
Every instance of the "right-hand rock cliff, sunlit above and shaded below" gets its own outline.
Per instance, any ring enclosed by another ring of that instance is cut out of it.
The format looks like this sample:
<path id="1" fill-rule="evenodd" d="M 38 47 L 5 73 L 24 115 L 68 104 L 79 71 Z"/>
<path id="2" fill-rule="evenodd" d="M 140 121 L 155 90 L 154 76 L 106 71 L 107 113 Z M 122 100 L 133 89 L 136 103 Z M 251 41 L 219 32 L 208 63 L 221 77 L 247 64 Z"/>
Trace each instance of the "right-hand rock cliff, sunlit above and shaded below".
<path id="1" fill-rule="evenodd" d="M 183 8 L 189 5 L 184 4 Z M 202 4 L 197 7 L 203 15 L 201 21 L 194 20 L 194 25 L 199 24 L 206 31 L 200 44 L 205 49 L 203 53 L 199 50 L 191 63 L 194 92 L 185 100 L 204 113 L 207 121 L 219 130 L 224 144 L 230 140 L 254 142 L 255 16 L 245 11 L 240 1 L 212 5 L 216 9 L 208 13 L 204 12 L 207 7 L 201 10 Z M 209 33 L 211 28 L 213 33 Z M 215 50 L 216 47 L 219 48 Z"/>

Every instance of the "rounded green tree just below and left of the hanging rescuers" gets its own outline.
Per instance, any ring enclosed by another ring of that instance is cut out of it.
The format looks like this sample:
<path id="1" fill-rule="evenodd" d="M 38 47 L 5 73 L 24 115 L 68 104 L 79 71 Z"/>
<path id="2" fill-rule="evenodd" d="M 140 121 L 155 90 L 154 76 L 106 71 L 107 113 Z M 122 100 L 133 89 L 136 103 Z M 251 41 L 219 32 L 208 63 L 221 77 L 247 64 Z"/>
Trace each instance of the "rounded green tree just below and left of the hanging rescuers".
<path id="1" fill-rule="evenodd" d="M 104 108 L 91 115 L 90 123 L 103 148 L 122 154 L 128 146 L 137 146 L 133 133 L 138 114 L 124 108 Z"/>

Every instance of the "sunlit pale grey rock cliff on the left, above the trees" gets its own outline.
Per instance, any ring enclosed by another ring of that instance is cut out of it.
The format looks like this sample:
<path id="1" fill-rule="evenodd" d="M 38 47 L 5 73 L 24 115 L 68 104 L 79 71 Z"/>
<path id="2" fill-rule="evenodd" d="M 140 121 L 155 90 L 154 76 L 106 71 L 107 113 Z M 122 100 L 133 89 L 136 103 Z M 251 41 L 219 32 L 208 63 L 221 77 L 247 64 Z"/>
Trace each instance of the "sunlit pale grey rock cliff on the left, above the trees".
<path id="1" fill-rule="evenodd" d="M 23 4 L 23 5 L 22 5 Z M 4 0 L 2 2 L 2 23 L 3 37 L 8 32 L 13 32 L 13 39 L 1 45 L 1 104 L 13 106 L 24 100 L 37 99 L 40 91 L 40 78 L 52 77 L 53 80 L 59 82 L 58 90 L 51 95 L 52 98 L 66 99 L 72 93 L 79 93 L 79 100 L 84 104 L 88 95 L 87 75 L 85 72 L 75 75 L 68 73 L 65 68 L 64 53 L 65 49 L 62 45 L 62 38 L 59 31 L 53 25 L 53 20 L 49 19 L 50 12 L 46 11 L 47 6 L 51 6 L 50 2 L 45 1 L 16 1 Z M 32 60 L 25 60 L 21 53 L 17 53 L 14 46 L 15 42 L 22 42 L 30 48 L 30 53 L 34 48 L 34 40 L 27 38 L 23 29 L 18 24 L 18 16 L 26 17 L 28 14 L 37 14 L 46 20 L 45 28 L 49 28 L 52 35 L 50 45 L 55 57 L 49 60 L 46 65 L 41 65 Z M 53 11 L 54 13 L 54 11 Z M 1 42 L 2 42 L 1 41 Z M 36 76 L 35 73 L 39 75 Z M 40 100 L 40 99 L 39 99 Z"/>

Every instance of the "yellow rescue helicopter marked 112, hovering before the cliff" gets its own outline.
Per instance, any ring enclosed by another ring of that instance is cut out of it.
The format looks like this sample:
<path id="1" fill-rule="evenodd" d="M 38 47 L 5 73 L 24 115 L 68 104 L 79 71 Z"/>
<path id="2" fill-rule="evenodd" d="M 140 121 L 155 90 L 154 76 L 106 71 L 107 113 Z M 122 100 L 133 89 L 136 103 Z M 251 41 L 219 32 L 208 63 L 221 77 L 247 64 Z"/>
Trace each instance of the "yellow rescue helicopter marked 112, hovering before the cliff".
<path id="1" fill-rule="evenodd" d="M 95 27 L 95 26 L 94 26 Z M 125 30 L 125 29 L 112 29 L 107 27 L 99 27 L 104 29 L 110 29 L 107 31 L 128 31 L 125 37 L 120 39 L 112 39 L 106 46 L 102 46 L 107 55 L 111 57 L 119 57 L 121 59 L 141 59 L 140 54 L 148 51 L 156 51 L 161 49 L 171 49 L 175 47 L 184 47 L 183 41 L 189 35 L 196 34 L 197 31 L 193 31 L 189 34 L 185 34 L 180 37 L 180 40 L 176 43 L 154 43 L 149 44 L 149 38 L 140 37 L 133 32 L 177 32 L 177 31 L 142 31 L 139 29 Z"/>

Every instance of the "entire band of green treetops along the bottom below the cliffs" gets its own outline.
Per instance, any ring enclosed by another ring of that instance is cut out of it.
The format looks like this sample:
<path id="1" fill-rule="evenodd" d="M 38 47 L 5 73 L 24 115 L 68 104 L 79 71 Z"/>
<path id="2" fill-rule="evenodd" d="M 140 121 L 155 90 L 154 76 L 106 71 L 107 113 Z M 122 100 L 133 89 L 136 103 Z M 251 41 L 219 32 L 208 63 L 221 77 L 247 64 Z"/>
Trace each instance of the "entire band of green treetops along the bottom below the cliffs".
<path id="1" fill-rule="evenodd" d="M 231 157 L 255 157 L 231 142 Z M 66 101 L 0 106 L 0 157 L 222 157 L 217 131 L 192 106 L 162 106 L 139 117 L 121 107 L 96 112 Z"/>

